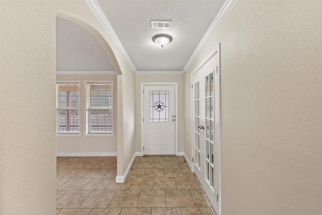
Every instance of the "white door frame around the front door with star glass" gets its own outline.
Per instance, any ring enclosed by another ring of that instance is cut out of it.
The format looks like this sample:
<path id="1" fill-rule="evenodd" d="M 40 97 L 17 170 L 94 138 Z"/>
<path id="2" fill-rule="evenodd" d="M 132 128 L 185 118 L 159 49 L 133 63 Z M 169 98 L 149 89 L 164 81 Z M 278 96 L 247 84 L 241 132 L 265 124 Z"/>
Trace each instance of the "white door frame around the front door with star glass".
<path id="1" fill-rule="evenodd" d="M 178 155 L 178 83 L 177 82 L 170 82 L 170 83 L 141 83 L 141 155 L 144 155 L 144 125 L 143 125 L 143 107 L 144 107 L 144 95 L 143 95 L 143 88 L 144 86 L 162 86 L 162 85 L 174 85 L 175 86 L 175 114 L 176 114 L 176 125 L 175 125 L 175 155 Z"/>

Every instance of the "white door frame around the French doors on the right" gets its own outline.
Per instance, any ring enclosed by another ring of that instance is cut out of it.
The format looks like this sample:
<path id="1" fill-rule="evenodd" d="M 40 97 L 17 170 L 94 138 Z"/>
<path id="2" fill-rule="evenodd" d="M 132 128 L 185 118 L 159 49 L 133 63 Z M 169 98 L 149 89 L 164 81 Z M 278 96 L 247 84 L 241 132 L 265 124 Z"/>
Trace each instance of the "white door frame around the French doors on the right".
<path id="1" fill-rule="evenodd" d="M 211 59 L 211 57 L 213 57 L 215 54 L 219 54 L 218 57 L 219 57 L 219 65 L 218 65 L 218 77 L 219 77 L 219 80 L 218 80 L 218 88 L 215 88 L 214 90 L 216 90 L 218 92 L 218 99 L 219 99 L 219 109 L 218 109 L 218 121 L 219 121 L 219 126 L 218 126 L 218 144 L 219 144 L 219 152 L 220 152 L 220 159 L 219 159 L 219 211 L 216 211 L 218 214 L 217 215 L 220 215 L 221 214 L 221 51 L 220 51 L 220 47 L 221 47 L 221 44 L 218 43 L 218 46 L 215 47 L 214 49 L 212 49 L 210 51 L 210 53 L 198 64 L 198 66 L 192 71 L 191 73 L 191 76 L 190 76 L 190 85 L 192 86 L 193 83 L 192 83 L 192 76 L 194 74 L 197 73 L 197 71 L 204 65 L 206 64 L 206 62 L 208 62 L 208 60 Z M 192 159 L 195 159 L 194 157 L 194 146 L 193 146 L 193 131 L 194 131 L 194 127 L 193 127 L 193 116 L 194 116 L 194 113 L 193 113 L 193 89 L 191 88 L 191 158 Z M 193 162 L 192 162 L 192 171 L 194 172 L 195 171 L 195 165 L 193 165 Z M 212 205 L 211 205 L 212 206 Z"/>

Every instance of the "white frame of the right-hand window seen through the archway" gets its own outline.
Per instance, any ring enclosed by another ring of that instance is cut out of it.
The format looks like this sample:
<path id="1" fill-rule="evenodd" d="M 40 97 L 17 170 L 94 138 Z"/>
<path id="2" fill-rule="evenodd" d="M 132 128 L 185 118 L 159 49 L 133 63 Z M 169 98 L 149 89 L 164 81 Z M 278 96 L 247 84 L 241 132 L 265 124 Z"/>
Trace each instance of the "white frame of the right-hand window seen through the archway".
<path id="1" fill-rule="evenodd" d="M 88 84 L 111 84 L 112 85 L 112 133 L 89 133 L 89 120 L 87 117 L 87 96 L 88 96 Z M 114 81 L 106 80 L 106 81 L 84 81 L 85 88 L 85 136 L 110 136 L 114 137 Z"/>

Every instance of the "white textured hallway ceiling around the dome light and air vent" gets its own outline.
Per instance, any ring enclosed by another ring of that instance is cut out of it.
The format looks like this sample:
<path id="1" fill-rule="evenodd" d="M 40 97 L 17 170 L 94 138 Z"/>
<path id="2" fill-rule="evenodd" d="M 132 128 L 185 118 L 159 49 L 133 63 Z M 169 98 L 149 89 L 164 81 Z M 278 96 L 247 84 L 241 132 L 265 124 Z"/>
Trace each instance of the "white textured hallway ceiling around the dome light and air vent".
<path id="1" fill-rule="evenodd" d="M 225 1 L 98 0 L 137 70 L 182 70 Z M 171 20 L 171 29 L 151 29 L 151 20 Z M 152 41 L 166 33 L 164 48 Z"/>

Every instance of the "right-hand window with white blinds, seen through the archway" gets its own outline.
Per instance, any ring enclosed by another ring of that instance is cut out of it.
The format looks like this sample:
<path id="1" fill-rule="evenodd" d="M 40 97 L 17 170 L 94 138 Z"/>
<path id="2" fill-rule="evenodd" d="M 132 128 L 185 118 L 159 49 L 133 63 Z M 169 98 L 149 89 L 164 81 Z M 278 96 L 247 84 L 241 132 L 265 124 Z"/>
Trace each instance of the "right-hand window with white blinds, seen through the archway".
<path id="1" fill-rule="evenodd" d="M 113 82 L 86 83 L 86 133 L 113 135 Z"/>

